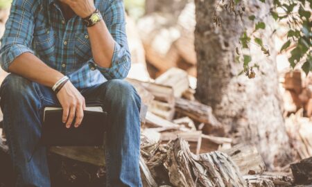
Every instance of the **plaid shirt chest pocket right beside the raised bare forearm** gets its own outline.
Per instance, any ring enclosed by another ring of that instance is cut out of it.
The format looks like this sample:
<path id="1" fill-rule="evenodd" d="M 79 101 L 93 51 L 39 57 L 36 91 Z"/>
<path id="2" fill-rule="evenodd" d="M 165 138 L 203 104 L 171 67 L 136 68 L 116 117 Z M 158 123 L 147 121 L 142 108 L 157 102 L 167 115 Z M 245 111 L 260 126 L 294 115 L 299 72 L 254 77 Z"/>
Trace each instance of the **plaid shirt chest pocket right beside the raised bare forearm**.
<path id="1" fill-rule="evenodd" d="M 87 33 L 75 33 L 75 58 L 76 62 L 87 62 L 92 58 L 91 44 Z"/>

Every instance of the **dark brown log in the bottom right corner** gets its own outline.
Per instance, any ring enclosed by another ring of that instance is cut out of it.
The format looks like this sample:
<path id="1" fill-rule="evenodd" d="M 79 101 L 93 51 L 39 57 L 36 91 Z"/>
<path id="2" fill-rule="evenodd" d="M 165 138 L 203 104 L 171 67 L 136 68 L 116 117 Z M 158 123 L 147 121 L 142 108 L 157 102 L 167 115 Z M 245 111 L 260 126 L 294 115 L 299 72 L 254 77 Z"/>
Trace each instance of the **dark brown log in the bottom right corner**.
<path id="1" fill-rule="evenodd" d="M 312 157 L 303 159 L 299 163 L 291 164 L 291 172 L 295 179 L 295 184 L 312 183 Z"/>

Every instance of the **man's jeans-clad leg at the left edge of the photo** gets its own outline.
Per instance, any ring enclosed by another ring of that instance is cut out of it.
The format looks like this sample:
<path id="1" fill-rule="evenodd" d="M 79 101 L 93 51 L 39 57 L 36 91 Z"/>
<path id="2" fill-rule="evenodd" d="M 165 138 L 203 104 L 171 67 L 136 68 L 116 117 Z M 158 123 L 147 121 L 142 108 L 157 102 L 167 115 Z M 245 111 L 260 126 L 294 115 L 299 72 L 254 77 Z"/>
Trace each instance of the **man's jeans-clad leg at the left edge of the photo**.
<path id="1" fill-rule="evenodd" d="M 46 150 L 38 147 L 34 152 L 34 149 L 41 134 L 41 109 L 55 101 L 52 91 L 11 73 L 1 84 L 0 96 L 3 127 L 17 172 L 17 186 L 51 186 Z"/>

